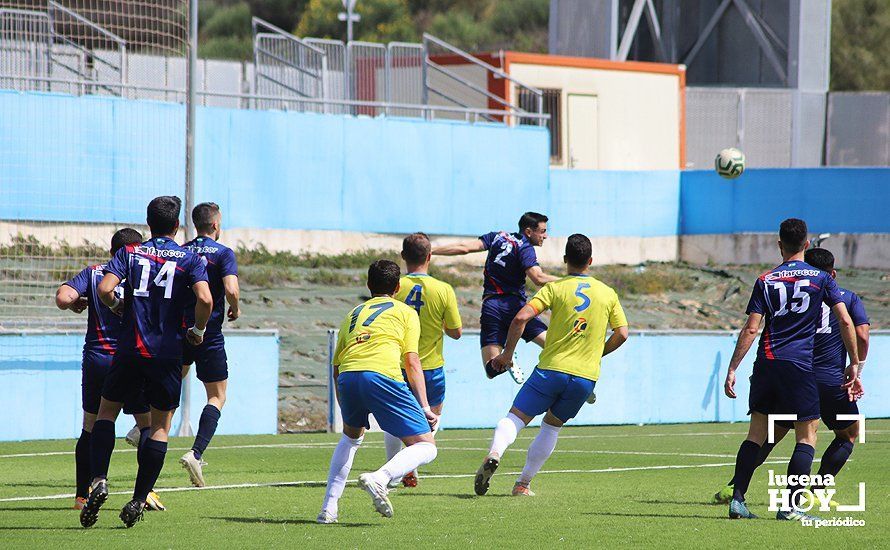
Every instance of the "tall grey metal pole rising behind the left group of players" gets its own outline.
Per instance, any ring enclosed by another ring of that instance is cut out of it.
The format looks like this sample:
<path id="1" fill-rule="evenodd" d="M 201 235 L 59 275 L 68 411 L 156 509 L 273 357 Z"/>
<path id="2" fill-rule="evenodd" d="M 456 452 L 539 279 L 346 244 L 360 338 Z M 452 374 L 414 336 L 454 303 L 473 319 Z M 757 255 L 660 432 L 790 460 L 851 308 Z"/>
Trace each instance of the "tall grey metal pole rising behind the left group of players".
<path id="1" fill-rule="evenodd" d="M 198 0 L 189 2 L 188 63 L 186 65 L 185 102 L 185 238 L 195 238 L 195 225 L 192 223 L 192 209 L 195 207 L 195 115 L 198 91 Z M 192 373 L 182 381 L 182 406 L 178 436 L 194 435 L 192 431 L 191 408 Z"/>

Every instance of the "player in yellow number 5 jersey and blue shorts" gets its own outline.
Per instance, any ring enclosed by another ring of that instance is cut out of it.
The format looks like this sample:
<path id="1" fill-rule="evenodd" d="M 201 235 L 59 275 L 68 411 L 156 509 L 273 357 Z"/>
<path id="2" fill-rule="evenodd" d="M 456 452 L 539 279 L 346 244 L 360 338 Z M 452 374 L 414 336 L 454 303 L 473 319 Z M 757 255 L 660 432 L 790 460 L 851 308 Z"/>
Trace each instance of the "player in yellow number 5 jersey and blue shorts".
<path id="1" fill-rule="evenodd" d="M 600 360 L 627 340 L 627 319 L 618 295 L 587 274 L 591 257 L 590 239 L 577 233 L 569 237 L 567 275 L 544 285 L 510 324 L 504 351 L 493 360 L 495 368 L 509 366 L 530 319 L 547 309 L 552 312 L 538 366 L 516 394 L 510 412 L 498 422 L 488 456 L 476 471 L 477 495 L 488 491 L 491 476 L 519 431 L 546 412 L 541 431 L 528 447 L 522 474 L 513 486 L 514 496 L 534 495 L 529 483 L 556 448 L 560 428 L 578 414 L 593 392 Z M 606 339 L 608 328 L 613 332 Z"/>

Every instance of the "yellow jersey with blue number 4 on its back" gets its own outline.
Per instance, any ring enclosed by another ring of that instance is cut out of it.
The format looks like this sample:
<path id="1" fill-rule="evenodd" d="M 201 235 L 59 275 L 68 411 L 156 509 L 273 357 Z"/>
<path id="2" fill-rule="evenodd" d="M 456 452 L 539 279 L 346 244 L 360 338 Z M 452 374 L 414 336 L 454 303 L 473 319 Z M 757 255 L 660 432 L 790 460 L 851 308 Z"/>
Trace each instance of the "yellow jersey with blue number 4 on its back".
<path id="1" fill-rule="evenodd" d="M 454 289 L 426 273 L 409 273 L 402 277 L 395 298 L 405 302 L 420 316 L 419 350 L 423 370 L 444 365 L 442 328 L 461 328 Z"/>

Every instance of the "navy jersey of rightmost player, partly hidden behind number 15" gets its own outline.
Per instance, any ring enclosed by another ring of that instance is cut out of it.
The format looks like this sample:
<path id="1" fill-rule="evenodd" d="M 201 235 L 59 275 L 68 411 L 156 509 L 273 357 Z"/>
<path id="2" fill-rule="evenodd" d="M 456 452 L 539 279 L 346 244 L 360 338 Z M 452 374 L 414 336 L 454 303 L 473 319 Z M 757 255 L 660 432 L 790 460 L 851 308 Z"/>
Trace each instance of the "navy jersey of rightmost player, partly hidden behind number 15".
<path id="1" fill-rule="evenodd" d="M 868 315 L 865 306 L 855 292 L 839 289 L 841 299 L 847 306 L 853 326 L 867 325 Z M 816 381 L 820 384 L 840 386 L 844 383 L 844 369 L 847 367 L 847 348 L 841 338 L 840 323 L 831 308 L 822 304 L 822 311 L 816 321 L 815 348 L 813 349 L 813 369 Z"/>

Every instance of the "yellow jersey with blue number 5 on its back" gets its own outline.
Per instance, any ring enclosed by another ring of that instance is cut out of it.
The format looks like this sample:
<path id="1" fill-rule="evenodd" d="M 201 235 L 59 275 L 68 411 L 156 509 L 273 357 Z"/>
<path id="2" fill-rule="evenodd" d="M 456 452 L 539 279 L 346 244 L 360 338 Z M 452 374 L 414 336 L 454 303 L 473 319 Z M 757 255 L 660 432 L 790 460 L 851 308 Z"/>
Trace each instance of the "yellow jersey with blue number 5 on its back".
<path id="1" fill-rule="evenodd" d="M 627 326 L 618 294 L 589 275 L 569 275 L 544 285 L 528 305 L 552 311 L 538 367 L 597 380 L 606 329 Z"/>

